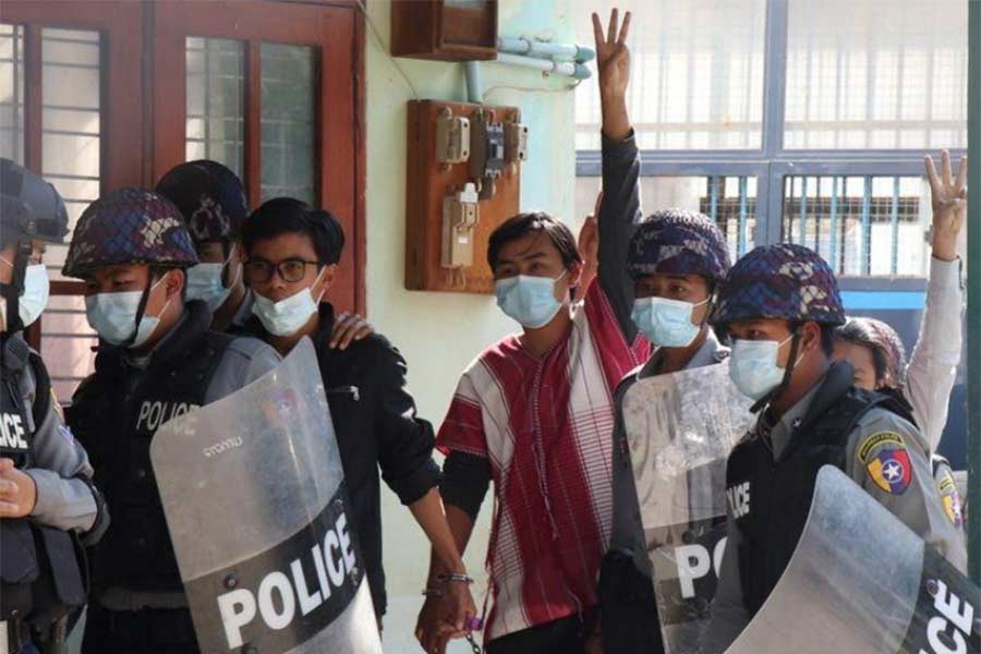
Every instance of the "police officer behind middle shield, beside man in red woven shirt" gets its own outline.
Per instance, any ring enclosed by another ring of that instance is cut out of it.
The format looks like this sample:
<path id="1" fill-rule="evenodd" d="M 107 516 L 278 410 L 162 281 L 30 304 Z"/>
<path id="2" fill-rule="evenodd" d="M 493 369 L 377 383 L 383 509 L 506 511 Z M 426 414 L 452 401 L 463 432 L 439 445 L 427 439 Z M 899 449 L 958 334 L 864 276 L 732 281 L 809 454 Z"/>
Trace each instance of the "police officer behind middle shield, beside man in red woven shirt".
<path id="1" fill-rule="evenodd" d="M 633 149 L 635 153 L 635 145 Z M 623 425 L 623 396 L 638 379 L 725 360 L 728 349 L 718 342 L 707 318 L 716 287 L 729 265 L 725 235 L 703 214 L 657 211 L 638 227 L 630 241 L 627 269 L 634 279 L 632 318 L 656 349 L 646 363 L 627 375 L 616 395 L 613 532 L 600 570 L 603 644 L 608 652 L 664 651 Z"/>

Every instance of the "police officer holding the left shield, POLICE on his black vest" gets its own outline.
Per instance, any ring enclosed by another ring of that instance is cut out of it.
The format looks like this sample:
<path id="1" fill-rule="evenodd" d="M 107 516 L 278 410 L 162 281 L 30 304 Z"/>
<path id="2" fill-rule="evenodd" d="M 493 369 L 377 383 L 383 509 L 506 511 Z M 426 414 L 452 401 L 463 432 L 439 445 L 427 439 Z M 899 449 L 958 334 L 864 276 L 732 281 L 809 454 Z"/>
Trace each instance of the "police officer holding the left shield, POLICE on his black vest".
<path id="1" fill-rule="evenodd" d="M 64 275 L 85 281 L 99 334 L 95 373 L 69 423 L 86 445 L 117 520 L 94 552 L 83 652 L 196 652 L 194 630 L 149 460 L 156 431 L 272 368 L 259 340 L 209 330 L 185 302 L 191 235 L 169 201 L 123 189 L 93 203 L 75 228 Z"/>

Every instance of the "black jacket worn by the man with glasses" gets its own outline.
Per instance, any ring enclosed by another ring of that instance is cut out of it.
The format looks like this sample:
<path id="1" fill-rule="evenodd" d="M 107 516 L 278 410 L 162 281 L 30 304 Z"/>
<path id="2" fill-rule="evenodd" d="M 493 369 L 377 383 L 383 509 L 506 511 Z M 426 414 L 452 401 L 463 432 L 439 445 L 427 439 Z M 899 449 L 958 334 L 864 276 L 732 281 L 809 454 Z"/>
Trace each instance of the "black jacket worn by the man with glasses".
<path id="1" fill-rule="evenodd" d="M 365 561 L 375 614 L 385 614 L 382 567 L 382 479 L 403 505 L 422 498 L 439 481 L 433 461 L 433 427 L 415 415 L 405 388 L 405 360 L 388 340 L 373 335 L 347 350 L 329 347 L 334 307 L 320 305 L 320 329 L 314 338 L 317 363 L 334 420 L 349 507 Z M 265 336 L 257 319 L 249 331 Z"/>

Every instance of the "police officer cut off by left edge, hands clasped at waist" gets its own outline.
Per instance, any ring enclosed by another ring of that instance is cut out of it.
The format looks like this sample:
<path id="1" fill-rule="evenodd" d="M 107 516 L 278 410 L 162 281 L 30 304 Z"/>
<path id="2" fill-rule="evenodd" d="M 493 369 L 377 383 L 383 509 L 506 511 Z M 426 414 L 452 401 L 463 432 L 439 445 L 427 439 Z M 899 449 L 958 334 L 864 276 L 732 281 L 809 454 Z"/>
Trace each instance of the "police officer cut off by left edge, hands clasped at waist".
<path id="1" fill-rule="evenodd" d="M 69 614 L 85 603 L 75 543 L 98 541 L 109 516 L 22 336 L 48 300 L 41 255 L 68 233 L 64 204 L 9 159 L 0 159 L 0 651 L 16 653 L 61 645 Z"/>

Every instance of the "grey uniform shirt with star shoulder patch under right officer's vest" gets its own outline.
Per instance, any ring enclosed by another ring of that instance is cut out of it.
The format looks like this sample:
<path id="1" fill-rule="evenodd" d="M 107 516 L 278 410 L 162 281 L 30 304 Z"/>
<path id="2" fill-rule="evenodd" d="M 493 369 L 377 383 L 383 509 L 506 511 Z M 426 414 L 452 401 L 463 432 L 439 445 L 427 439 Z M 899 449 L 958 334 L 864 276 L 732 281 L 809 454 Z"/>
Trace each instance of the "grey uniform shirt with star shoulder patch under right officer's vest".
<path id="1" fill-rule="evenodd" d="M 789 444 L 820 387 L 820 384 L 815 385 L 770 429 L 774 460 Z M 765 414 L 761 414 L 758 432 L 765 433 Z M 876 407 L 859 420 L 848 437 L 844 472 L 964 571 L 967 567 L 964 540 L 944 511 L 925 449 L 916 427 L 895 413 Z M 752 511 L 751 494 L 747 504 L 746 510 Z M 712 623 L 703 650 L 707 653 L 724 652 L 750 621 L 749 611 L 743 606 L 737 557 L 741 534 L 736 526 L 732 507 L 728 504 L 726 532 L 726 550 L 712 606 Z"/>

